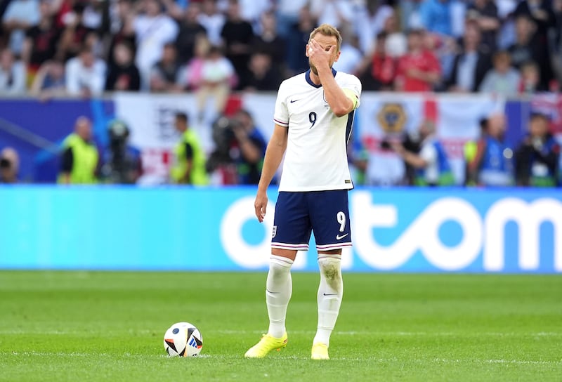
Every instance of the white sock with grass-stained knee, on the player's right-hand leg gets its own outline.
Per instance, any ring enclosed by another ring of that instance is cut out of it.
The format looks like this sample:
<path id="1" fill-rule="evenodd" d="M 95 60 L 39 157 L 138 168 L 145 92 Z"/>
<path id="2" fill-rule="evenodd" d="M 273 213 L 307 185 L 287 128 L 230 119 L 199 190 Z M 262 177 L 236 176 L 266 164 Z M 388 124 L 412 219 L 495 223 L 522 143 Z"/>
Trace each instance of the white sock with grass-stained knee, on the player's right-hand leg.
<path id="1" fill-rule="evenodd" d="M 318 256 L 320 286 L 318 287 L 318 329 L 313 343 L 329 345 L 329 336 L 338 318 L 344 280 L 341 278 L 341 255 Z"/>

